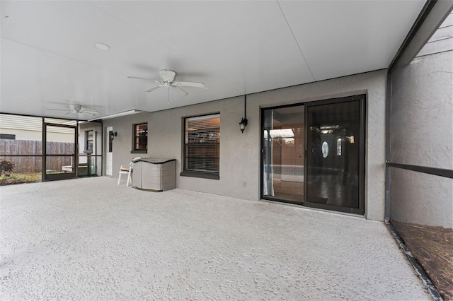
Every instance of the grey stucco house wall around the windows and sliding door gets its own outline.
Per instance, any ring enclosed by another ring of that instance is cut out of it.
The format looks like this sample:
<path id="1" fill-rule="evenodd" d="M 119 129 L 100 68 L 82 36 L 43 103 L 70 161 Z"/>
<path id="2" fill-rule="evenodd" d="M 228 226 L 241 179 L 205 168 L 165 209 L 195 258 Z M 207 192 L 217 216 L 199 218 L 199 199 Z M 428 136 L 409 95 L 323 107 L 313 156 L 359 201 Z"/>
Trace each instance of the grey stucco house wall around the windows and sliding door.
<path id="1" fill-rule="evenodd" d="M 153 113 L 141 113 L 104 121 L 104 130 L 113 126 L 113 170 L 128 163 L 132 149 L 132 124 L 148 122 L 148 153 L 142 157 L 176 158 L 176 186 L 240 199 L 260 199 L 260 108 L 312 100 L 367 94 L 367 173 L 365 216 L 384 220 L 385 175 L 385 95 L 386 70 L 297 85 L 247 95 L 248 126 L 241 134 L 243 96 L 206 102 Z M 220 113 L 220 179 L 181 177 L 183 157 L 183 118 Z M 117 173 L 113 173 L 117 177 Z"/>

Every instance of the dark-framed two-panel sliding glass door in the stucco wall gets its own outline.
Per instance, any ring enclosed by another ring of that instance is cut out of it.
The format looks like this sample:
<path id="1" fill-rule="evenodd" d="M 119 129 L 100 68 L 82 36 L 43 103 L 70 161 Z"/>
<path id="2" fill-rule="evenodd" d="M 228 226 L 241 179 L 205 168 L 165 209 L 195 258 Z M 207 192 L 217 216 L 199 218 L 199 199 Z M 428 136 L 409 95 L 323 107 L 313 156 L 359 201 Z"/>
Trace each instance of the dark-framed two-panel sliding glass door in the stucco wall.
<path id="1" fill-rule="evenodd" d="M 262 110 L 261 197 L 363 214 L 365 95 Z"/>

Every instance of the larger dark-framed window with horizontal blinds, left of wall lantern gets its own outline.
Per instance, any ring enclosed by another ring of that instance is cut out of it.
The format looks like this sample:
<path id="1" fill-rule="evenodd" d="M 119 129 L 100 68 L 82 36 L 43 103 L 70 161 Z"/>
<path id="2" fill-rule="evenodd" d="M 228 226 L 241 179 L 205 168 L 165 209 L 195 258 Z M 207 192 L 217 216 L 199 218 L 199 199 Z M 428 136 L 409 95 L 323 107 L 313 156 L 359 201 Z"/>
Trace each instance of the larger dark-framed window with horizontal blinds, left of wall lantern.
<path id="1" fill-rule="evenodd" d="M 184 153 L 185 171 L 219 174 L 220 114 L 185 119 Z"/>

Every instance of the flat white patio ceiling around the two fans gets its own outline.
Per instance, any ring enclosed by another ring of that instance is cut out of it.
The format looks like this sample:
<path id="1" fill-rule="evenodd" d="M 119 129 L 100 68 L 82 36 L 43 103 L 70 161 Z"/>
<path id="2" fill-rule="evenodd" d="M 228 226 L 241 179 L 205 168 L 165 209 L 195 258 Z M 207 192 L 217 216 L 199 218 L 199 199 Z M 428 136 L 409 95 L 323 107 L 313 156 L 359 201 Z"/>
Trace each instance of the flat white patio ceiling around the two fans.
<path id="1" fill-rule="evenodd" d="M 384 69 L 420 13 L 413 1 L 1 1 L 0 112 L 98 117 Z M 109 51 L 96 49 L 103 42 Z M 155 84 L 159 69 L 185 88 Z"/>

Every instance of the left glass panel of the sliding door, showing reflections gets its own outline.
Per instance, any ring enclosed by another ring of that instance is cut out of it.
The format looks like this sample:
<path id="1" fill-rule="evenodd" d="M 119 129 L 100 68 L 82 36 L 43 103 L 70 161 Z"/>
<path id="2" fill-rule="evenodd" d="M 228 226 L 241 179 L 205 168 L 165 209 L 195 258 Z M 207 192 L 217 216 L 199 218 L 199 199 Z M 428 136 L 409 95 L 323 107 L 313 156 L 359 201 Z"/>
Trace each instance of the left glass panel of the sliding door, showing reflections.
<path id="1" fill-rule="evenodd" d="M 304 201 L 304 106 L 263 110 L 262 197 Z"/>

